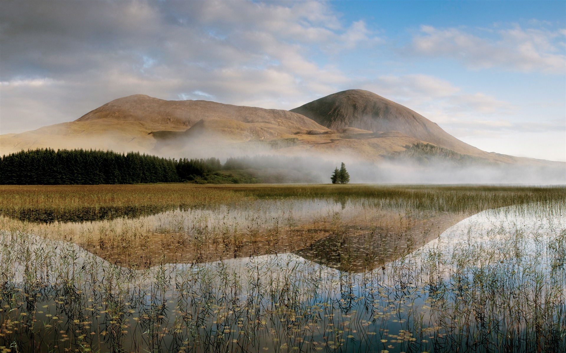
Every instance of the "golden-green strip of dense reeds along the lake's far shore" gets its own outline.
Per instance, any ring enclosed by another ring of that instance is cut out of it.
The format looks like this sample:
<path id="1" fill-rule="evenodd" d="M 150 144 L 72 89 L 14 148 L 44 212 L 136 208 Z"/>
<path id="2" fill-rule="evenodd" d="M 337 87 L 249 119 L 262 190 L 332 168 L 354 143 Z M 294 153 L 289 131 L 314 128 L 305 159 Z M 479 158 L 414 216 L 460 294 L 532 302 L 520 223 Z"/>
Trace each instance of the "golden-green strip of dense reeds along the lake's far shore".
<path id="1" fill-rule="evenodd" d="M 248 184 L 0 185 L 0 212 L 101 207 L 207 207 L 261 198 L 371 198 L 434 211 L 564 202 L 566 186 Z M 8 212 L 9 213 L 9 212 Z"/>

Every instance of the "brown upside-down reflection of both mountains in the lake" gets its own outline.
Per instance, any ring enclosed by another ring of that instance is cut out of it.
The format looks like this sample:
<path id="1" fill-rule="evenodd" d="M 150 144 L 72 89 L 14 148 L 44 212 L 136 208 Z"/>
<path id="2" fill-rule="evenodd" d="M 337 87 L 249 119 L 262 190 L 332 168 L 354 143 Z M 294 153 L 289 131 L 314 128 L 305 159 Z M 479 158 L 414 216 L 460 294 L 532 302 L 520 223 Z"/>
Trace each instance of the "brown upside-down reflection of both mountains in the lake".
<path id="1" fill-rule="evenodd" d="M 0 223 L 2 229 L 72 241 L 131 268 L 149 268 L 164 261 L 205 263 L 294 252 L 341 271 L 360 272 L 407 254 L 467 216 L 387 208 L 369 199 L 347 198 L 259 200 L 152 213 L 157 210 L 76 210 L 66 219 L 80 215 L 84 221 L 14 224 L 19 220 L 0 217 Z M 127 216 L 144 213 L 148 214 Z M 87 220 L 89 214 L 107 218 Z M 49 220 L 55 216 L 32 212 L 26 217 Z"/>

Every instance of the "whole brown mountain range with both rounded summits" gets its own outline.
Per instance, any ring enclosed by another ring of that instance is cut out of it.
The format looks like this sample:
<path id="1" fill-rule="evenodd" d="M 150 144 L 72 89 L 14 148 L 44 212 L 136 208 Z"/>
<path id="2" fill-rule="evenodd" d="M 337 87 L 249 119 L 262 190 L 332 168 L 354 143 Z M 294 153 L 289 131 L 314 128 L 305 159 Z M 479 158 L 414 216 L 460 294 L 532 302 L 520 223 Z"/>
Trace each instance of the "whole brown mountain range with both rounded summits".
<path id="1" fill-rule="evenodd" d="M 174 158 L 280 154 L 377 163 L 559 163 L 479 150 L 417 112 L 365 90 L 341 91 L 290 111 L 135 94 L 75 121 L 0 135 L 2 154 L 37 147 L 134 150 Z"/>

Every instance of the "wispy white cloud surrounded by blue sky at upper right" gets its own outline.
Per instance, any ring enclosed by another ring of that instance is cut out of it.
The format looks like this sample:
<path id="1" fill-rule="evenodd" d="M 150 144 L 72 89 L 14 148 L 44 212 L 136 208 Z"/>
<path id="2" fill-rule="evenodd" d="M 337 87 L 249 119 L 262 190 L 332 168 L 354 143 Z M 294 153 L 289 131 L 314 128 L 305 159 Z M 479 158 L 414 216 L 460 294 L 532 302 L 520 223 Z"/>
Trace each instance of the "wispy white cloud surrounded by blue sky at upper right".
<path id="1" fill-rule="evenodd" d="M 423 25 L 406 50 L 415 55 L 460 60 L 473 69 L 501 67 L 562 75 L 566 72 L 564 29 L 522 29 L 514 25 L 482 33 L 483 36 L 477 36 L 461 28 Z"/>

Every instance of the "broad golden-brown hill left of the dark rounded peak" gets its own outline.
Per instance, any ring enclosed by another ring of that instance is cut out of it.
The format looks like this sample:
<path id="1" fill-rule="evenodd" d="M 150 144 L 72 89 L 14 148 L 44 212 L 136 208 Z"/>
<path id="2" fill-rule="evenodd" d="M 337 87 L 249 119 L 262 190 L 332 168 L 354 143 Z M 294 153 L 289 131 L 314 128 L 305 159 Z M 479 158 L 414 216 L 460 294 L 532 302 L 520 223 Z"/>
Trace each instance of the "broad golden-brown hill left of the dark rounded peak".
<path id="1" fill-rule="evenodd" d="M 231 138 L 225 140 L 231 142 L 245 142 L 251 137 L 263 139 L 293 134 L 301 129 L 328 130 L 305 116 L 286 110 L 209 101 L 165 101 L 135 94 L 114 99 L 75 121 L 19 134 L 0 135 L 0 153 L 42 147 L 155 153 L 162 150 L 164 145 L 170 145 L 164 137 L 175 136 L 175 132 L 184 132 L 200 121 L 195 127 L 200 130 L 199 136 L 215 134 L 227 137 L 228 133 Z M 234 125 L 238 125 L 239 129 L 235 129 Z M 198 138 L 194 136 L 194 140 Z M 205 149 L 206 143 L 199 143 Z M 179 154 L 175 151 L 169 151 L 170 155 L 178 158 Z"/>

